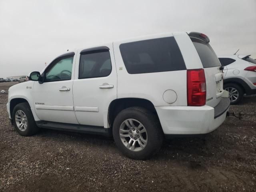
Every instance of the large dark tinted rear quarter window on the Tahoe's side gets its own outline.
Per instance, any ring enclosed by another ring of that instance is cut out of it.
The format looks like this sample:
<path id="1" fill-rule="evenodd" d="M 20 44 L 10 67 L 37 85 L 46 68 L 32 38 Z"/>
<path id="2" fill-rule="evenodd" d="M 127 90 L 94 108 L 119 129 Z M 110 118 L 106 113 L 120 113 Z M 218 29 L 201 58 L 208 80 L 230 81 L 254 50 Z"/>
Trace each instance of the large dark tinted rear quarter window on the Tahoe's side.
<path id="1" fill-rule="evenodd" d="M 120 52 L 130 74 L 186 70 L 174 37 L 124 43 Z"/>

